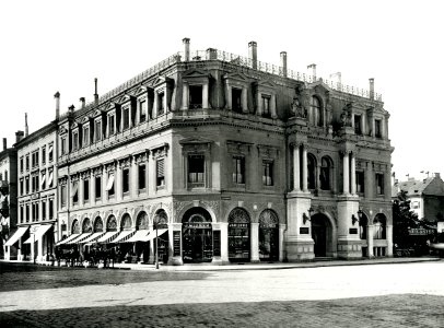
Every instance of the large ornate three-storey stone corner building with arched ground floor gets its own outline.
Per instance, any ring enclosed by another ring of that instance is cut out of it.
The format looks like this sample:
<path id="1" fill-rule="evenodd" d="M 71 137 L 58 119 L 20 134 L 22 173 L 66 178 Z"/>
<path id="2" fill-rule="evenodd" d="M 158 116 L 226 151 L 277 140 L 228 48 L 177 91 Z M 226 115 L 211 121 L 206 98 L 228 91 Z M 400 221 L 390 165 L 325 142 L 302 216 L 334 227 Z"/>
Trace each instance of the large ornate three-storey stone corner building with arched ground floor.
<path id="1" fill-rule="evenodd" d="M 266 65 L 254 42 L 247 58 L 189 46 L 60 118 L 59 238 L 119 233 L 152 261 L 155 236 L 137 236 L 157 233 L 171 265 L 390 256 L 373 80 L 365 93 L 295 73 L 285 52 Z"/>

